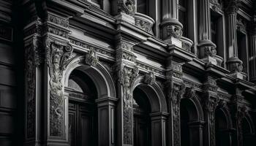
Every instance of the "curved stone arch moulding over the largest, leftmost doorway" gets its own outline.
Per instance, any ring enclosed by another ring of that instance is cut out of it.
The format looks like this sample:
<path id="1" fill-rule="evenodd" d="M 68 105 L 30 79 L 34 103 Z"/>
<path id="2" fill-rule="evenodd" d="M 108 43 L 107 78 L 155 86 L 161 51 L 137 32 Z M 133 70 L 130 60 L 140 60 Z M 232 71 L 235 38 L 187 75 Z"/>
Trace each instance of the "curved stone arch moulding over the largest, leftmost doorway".
<path id="1" fill-rule="evenodd" d="M 97 88 L 98 99 L 105 97 L 116 98 L 115 84 L 108 69 L 105 69 L 105 66 L 100 62 L 96 66 L 86 65 L 84 63 L 85 59 L 85 56 L 79 56 L 69 62 L 67 69 L 64 71 L 64 85 L 67 86 L 71 72 L 74 69 L 78 69 L 93 80 Z"/>

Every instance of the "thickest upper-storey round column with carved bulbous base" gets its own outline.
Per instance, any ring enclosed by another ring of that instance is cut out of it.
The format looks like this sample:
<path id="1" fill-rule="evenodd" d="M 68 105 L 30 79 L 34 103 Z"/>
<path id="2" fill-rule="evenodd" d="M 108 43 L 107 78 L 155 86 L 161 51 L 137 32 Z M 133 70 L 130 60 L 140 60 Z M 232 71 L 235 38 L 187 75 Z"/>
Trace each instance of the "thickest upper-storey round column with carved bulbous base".
<path id="1" fill-rule="evenodd" d="M 178 21 L 178 0 L 162 1 L 162 39 L 173 44 L 176 39 L 181 39 L 182 24 Z M 173 40 L 173 38 L 175 38 Z M 181 46 L 180 46 L 181 47 Z"/>

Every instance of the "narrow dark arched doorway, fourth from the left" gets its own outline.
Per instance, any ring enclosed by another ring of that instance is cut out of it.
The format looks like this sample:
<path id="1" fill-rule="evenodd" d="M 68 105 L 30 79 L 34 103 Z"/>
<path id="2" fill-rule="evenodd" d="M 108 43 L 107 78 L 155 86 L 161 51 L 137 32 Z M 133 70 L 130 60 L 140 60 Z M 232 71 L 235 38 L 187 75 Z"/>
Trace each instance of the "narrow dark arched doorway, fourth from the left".
<path id="1" fill-rule="evenodd" d="M 228 126 L 227 115 L 222 108 L 215 110 L 215 142 L 218 146 L 230 145 L 231 132 Z"/>

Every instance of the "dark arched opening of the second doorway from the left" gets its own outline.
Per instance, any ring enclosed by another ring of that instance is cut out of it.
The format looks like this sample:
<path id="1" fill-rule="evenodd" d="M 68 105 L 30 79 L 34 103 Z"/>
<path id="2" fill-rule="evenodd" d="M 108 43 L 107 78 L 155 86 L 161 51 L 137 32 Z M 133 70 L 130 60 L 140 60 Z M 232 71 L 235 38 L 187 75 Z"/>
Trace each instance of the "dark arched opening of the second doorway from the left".
<path id="1" fill-rule="evenodd" d="M 146 94 L 140 88 L 135 88 L 133 98 L 134 146 L 151 145 L 150 103 Z"/>

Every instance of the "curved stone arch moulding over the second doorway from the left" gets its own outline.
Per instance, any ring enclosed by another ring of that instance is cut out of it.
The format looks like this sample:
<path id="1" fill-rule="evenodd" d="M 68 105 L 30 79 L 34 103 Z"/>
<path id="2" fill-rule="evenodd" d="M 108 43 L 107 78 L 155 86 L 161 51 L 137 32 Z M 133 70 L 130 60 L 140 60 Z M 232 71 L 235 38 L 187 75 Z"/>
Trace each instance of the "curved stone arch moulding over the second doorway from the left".
<path id="1" fill-rule="evenodd" d="M 167 103 L 165 101 L 165 94 L 157 84 L 153 82 L 150 84 L 143 83 L 144 76 L 139 75 L 132 82 L 131 88 L 134 91 L 135 88 L 140 88 L 146 93 L 148 101 L 151 104 L 151 112 L 165 112 L 167 113 Z"/>

